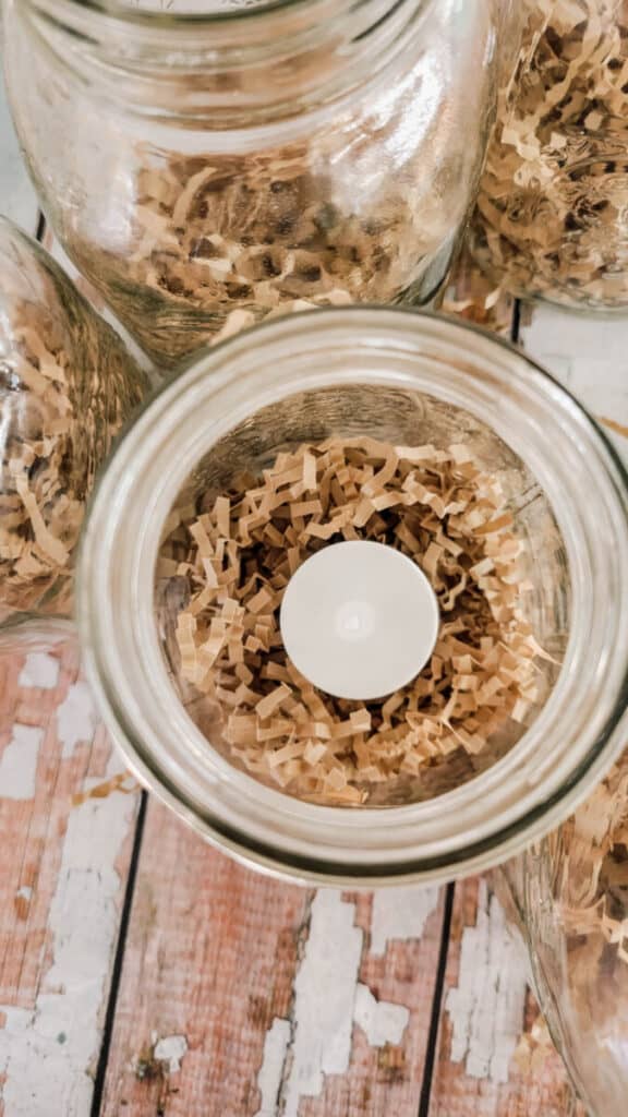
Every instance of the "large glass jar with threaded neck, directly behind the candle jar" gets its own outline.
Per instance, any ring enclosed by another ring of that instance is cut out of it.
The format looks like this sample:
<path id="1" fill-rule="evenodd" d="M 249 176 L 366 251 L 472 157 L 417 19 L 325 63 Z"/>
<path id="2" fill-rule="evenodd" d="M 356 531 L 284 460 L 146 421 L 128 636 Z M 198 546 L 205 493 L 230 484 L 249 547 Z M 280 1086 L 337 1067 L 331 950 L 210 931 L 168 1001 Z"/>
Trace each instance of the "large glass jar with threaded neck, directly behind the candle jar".
<path id="1" fill-rule="evenodd" d="M 301 305 L 439 289 L 493 118 L 495 0 L 4 9 L 46 216 L 158 362 Z"/>

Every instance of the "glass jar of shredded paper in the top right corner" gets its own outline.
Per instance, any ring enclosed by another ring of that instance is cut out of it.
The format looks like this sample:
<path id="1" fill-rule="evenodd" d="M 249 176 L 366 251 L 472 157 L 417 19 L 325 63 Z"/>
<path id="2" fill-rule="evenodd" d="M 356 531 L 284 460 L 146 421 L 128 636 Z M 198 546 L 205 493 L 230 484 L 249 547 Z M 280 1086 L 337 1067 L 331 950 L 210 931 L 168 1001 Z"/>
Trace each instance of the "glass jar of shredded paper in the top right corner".
<path id="1" fill-rule="evenodd" d="M 470 245 L 496 284 L 567 307 L 628 307 L 628 11 L 522 0 Z"/>

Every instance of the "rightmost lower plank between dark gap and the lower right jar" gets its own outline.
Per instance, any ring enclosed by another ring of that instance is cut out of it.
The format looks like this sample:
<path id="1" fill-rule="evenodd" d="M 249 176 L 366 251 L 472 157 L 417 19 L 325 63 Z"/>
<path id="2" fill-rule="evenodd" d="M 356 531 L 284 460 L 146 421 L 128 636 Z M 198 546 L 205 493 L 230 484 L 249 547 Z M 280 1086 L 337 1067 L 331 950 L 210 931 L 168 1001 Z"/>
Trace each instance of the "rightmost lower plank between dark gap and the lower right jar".
<path id="1" fill-rule="evenodd" d="M 527 975 L 486 880 L 458 884 L 429 1117 L 586 1117 L 553 1048 L 521 1052 L 539 1016 Z"/>

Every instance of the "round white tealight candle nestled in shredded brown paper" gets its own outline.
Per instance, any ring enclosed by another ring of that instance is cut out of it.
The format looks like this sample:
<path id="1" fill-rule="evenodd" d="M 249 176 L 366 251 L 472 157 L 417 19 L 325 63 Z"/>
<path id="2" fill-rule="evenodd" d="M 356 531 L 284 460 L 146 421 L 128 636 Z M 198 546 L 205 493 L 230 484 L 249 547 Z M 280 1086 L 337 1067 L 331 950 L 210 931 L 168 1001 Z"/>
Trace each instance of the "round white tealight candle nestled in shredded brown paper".
<path id="1" fill-rule="evenodd" d="M 323 547 L 299 566 L 282 602 L 287 655 L 337 698 L 369 701 L 411 682 L 434 651 L 438 626 L 424 572 L 382 543 Z"/>

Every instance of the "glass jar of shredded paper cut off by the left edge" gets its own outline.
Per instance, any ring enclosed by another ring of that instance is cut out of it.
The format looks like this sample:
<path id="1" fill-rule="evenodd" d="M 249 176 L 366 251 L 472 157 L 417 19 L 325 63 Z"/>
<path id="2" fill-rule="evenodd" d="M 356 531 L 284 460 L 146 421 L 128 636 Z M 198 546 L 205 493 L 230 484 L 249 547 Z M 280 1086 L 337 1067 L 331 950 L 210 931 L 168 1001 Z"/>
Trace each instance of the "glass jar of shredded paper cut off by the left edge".
<path id="1" fill-rule="evenodd" d="M 85 502 L 145 390 L 58 265 L 0 218 L 0 630 L 72 612 Z"/>

